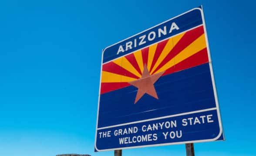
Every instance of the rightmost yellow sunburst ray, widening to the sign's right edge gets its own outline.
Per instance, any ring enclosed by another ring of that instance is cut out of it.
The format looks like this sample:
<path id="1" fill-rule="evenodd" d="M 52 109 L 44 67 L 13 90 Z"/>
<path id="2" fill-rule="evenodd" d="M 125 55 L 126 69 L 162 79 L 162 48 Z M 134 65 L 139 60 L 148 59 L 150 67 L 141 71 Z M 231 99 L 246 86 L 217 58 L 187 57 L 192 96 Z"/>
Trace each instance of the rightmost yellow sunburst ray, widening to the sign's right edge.
<path id="1" fill-rule="evenodd" d="M 189 58 L 190 56 L 192 56 L 195 53 L 199 52 L 200 50 L 204 49 L 205 47 L 206 47 L 205 35 L 202 34 L 199 38 L 197 38 L 189 46 L 187 46 L 185 49 L 183 49 L 182 52 L 180 52 L 178 55 L 176 55 L 174 58 L 172 58 L 169 62 L 167 62 L 164 66 L 162 66 L 162 68 L 160 68 L 158 71 L 156 71 L 155 74 L 165 71 L 168 68 L 171 68 L 173 65 L 176 65 L 177 63 L 182 62 L 186 58 Z"/>

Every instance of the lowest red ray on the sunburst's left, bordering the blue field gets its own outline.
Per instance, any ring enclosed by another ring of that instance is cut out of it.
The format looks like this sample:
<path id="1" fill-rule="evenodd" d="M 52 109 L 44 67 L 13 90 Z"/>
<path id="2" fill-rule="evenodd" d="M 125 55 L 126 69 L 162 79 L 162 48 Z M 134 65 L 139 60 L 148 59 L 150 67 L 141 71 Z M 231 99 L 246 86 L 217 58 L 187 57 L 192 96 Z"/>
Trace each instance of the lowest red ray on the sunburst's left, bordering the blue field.
<path id="1" fill-rule="evenodd" d="M 107 93 L 109 91 L 114 91 L 116 89 L 127 87 L 131 84 L 127 82 L 112 82 L 112 83 L 101 83 L 101 94 Z"/>

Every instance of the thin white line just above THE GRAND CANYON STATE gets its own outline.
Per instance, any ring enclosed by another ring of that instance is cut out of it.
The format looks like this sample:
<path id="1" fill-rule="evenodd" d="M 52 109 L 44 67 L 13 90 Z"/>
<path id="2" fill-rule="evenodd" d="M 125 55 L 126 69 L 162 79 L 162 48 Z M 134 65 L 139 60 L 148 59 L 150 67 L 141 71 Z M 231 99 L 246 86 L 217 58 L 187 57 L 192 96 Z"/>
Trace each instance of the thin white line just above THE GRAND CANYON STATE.
<path id="1" fill-rule="evenodd" d="M 168 115 L 168 116 L 165 116 L 165 117 L 156 117 L 156 118 L 152 118 L 152 119 L 134 121 L 134 122 L 129 122 L 129 123 L 121 123 L 121 124 L 117 124 L 117 125 L 113 125 L 113 126 L 101 127 L 101 128 L 98 128 L 97 130 L 102 130 L 102 129 L 111 128 L 111 127 L 125 126 L 125 125 L 129 125 L 129 124 L 133 124 L 133 123 L 141 123 L 141 122 L 146 122 L 146 121 L 165 119 L 165 118 L 168 118 L 168 117 L 178 117 L 178 116 L 182 116 L 182 115 L 200 113 L 200 112 L 205 112 L 205 111 L 209 111 L 209 110 L 216 110 L 216 109 L 217 108 L 214 107 L 214 108 L 208 108 L 208 109 L 203 109 L 203 110 L 195 110 L 195 111 L 191 111 L 191 112 L 185 112 L 185 113 L 180 113 L 180 114 Z"/>

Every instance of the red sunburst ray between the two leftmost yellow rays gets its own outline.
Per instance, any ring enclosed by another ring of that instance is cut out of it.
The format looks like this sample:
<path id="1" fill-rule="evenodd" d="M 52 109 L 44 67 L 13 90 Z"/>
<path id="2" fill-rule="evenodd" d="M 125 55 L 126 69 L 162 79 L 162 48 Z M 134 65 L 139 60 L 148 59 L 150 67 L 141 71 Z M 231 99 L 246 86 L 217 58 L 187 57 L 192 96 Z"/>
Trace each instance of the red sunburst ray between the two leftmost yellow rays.
<path id="1" fill-rule="evenodd" d="M 114 62 L 108 62 L 102 66 L 103 71 L 108 71 L 111 73 L 119 74 L 128 76 L 131 78 L 139 78 L 138 76 L 132 74 L 130 71 L 120 67 L 119 65 L 115 64 Z"/>

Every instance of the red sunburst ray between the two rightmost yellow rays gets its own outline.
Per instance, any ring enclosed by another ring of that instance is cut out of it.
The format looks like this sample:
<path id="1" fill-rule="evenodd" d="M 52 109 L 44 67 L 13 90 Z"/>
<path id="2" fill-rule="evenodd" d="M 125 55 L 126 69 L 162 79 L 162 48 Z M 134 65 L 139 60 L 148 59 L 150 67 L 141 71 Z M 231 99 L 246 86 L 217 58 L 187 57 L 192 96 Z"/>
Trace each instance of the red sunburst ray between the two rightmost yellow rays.
<path id="1" fill-rule="evenodd" d="M 153 71 L 154 74 L 158 69 L 170 61 L 175 55 L 179 54 L 183 49 L 189 46 L 195 39 L 199 38 L 204 33 L 203 26 L 192 29 L 185 33 L 184 36 L 179 40 L 179 42 L 173 47 L 173 49 L 168 53 L 168 55 L 163 59 L 163 61 L 158 65 L 158 67 Z"/>

